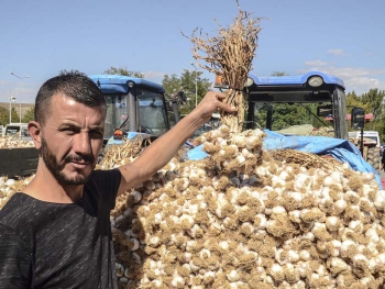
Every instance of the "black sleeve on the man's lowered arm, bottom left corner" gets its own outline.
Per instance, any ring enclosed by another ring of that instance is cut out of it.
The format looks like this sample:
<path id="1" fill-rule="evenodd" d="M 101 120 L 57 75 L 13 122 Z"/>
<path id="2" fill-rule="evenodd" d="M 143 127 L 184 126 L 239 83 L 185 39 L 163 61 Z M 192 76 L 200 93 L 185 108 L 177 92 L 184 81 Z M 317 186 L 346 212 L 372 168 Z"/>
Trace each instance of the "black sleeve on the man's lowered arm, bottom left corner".
<path id="1" fill-rule="evenodd" d="M 31 280 L 32 260 L 25 243 L 0 224 L 0 289 L 30 288 Z"/>

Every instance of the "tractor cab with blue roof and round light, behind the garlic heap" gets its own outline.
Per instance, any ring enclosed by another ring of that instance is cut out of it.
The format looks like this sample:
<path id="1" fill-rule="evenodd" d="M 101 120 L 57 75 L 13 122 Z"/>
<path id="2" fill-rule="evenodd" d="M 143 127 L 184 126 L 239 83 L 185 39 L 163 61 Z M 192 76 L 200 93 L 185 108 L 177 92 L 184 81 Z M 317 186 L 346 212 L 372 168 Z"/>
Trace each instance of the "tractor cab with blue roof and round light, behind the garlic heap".
<path id="1" fill-rule="evenodd" d="M 316 132 L 322 129 L 329 136 L 348 140 L 344 84 L 337 77 L 320 71 L 271 77 L 250 74 L 244 95 L 245 129 L 286 135 L 319 135 Z"/>

